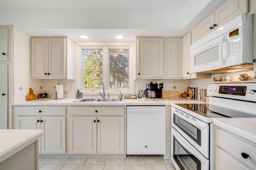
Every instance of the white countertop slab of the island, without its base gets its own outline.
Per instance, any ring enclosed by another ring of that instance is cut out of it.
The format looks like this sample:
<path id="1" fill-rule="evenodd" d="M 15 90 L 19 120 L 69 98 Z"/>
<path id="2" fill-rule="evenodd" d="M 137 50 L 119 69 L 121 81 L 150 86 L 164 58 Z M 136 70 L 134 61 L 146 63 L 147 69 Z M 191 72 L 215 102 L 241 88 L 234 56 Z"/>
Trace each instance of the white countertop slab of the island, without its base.
<path id="1" fill-rule="evenodd" d="M 0 129 L 0 162 L 42 137 L 42 130 Z"/>

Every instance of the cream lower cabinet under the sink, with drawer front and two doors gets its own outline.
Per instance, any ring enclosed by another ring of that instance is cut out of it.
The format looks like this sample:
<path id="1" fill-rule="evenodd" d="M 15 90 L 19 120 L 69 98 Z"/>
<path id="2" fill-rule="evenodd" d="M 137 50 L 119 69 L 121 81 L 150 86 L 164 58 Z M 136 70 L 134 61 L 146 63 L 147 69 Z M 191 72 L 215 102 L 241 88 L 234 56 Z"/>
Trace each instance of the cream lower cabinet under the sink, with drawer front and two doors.
<path id="1" fill-rule="evenodd" d="M 124 107 L 71 107 L 71 154 L 124 154 Z M 74 115 L 76 114 L 76 115 Z M 80 115 L 84 114 L 84 115 Z M 102 114 L 102 115 L 100 115 Z M 111 116 L 114 114 L 115 116 Z M 109 115 L 109 116 L 105 116 Z M 123 115 L 123 116 L 116 116 Z"/>

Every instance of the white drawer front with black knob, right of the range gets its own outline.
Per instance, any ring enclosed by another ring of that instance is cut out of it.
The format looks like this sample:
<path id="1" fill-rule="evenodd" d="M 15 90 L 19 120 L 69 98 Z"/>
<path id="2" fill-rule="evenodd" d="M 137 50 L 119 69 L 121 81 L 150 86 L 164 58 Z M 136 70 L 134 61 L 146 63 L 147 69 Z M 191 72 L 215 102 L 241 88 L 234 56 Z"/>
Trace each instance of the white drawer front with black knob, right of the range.
<path id="1" fill-rule="evenodd" d="M 252 146 L 221 129 L 216 130 L 216 144 L 247 166 L 256 169 L 256 145 Z M 248 154 L 249 157 L 243 158 L 242 152 Z"/>

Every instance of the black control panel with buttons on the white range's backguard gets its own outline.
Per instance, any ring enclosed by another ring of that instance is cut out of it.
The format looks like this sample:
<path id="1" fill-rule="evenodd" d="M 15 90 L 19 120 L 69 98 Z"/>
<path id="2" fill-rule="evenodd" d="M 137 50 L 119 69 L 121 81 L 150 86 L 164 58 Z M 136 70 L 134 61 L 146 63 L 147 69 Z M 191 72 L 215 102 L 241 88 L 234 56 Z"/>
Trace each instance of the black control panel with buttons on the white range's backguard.
<path id="1" fill-rule="evenodd" d="M 247 89 L 247 86 L 220 86 L 219 94 L 245 96 L 246 89 Z"/>

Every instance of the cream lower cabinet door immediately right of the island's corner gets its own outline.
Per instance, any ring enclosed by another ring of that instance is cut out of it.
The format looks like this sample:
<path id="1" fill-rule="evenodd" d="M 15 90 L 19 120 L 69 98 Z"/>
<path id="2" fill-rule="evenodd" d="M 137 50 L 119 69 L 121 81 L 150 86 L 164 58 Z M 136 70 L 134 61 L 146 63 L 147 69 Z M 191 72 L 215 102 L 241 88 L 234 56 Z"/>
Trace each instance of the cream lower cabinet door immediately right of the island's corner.
<path id="1" fill-rule="evenodd" d="M 66 153 L 66 117 L 41 117 L 42 153 Z"/>

